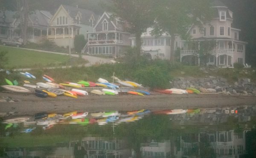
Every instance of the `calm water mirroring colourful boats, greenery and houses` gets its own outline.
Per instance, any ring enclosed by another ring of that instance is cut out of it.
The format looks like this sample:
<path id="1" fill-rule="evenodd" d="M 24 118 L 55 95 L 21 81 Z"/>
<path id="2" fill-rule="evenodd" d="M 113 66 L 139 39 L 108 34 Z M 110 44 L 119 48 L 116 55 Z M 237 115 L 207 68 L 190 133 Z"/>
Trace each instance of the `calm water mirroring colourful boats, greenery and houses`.
<path id="1" fill-rule="evenodd" d="M 3 118 L 1 157 L 254 158 L 256 106 Z"/>

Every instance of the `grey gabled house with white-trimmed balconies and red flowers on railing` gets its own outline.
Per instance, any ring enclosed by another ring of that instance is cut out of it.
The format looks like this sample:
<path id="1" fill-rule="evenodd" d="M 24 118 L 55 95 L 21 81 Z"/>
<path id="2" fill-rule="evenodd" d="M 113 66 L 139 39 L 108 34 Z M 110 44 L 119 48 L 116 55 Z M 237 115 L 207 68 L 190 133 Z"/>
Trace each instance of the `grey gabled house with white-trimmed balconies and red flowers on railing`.
<path id="1" fill-rule="evenodd" d="M 88 43 L 82 53 L 90 55 L 108 55 L 118 57 L 123 49 L 131 45 L 130 34 L 124 31 L 126 22 L 120 18 L 111 18 L 104 12 L 93 28 L 88 32 Z"/>

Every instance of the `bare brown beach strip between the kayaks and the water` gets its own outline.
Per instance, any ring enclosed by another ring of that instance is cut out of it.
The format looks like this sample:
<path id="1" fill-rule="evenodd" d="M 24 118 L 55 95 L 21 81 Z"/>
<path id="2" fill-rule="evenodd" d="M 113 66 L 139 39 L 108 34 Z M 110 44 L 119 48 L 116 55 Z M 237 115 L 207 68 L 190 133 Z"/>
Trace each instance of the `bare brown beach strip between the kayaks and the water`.
<path id="1" fill-rule="evenodd" d="M 10 97 L 17 102 L 0 102 L 0 112 L 15 112 L 17 115 L 34 115 L 38 112 L 100 112 L 108 110 L 131 111 L 138 109 L 193 109 L 226 106 L 256 105 L 255 96 L 233 96 L 221 94 L 165 95 L 153 93 L 149 96 L 134 95 L 87 95 L 78 99 L 65 96 L 39 98 L 34 94 L 0 92 L 1 98 Z"/>

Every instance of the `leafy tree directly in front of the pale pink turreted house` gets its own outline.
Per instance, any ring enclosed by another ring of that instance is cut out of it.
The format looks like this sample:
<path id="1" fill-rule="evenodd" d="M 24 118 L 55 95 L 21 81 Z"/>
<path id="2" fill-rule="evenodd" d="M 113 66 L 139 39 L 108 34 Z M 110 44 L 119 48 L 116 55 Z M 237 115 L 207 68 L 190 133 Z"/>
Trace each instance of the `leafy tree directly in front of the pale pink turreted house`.
<path id="1" fill-rule="evenodd" d="M 175 61 L 175 35 L 188 39 L 187 31 L 194 24 L 201 27 L 211 20 L 211 0 L 161 0 L 154 11 L 157 14 L 152 34 L 168 32 L 171 39 L 170 60 Z"/>

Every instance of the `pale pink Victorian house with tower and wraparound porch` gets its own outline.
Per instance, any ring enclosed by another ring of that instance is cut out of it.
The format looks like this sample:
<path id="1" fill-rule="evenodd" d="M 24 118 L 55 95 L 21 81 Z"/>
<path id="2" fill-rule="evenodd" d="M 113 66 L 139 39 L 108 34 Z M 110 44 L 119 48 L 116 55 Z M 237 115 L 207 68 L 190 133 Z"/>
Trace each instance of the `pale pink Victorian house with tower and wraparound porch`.
<path id="1" fill-rule="evenodd" d="M 233 12 L 220 0 L 212 3 L 214 17 L 205 24 L 202 29 L 192 25 L 188 33 L 192 36 L 191 41 L 195 45 L 189 44 L 186 40 L 180 41 L 180 61 L 183 63 L 200 64 L 199 51 L 206 41 L 215 43 L 213 49 L 209 51 L 207 65 L 218 67 L 233 67 L 234 63 L 243 64 L 245 62 L 244 41 L 239 40 L 240 29 L 233 28 Z"/>

